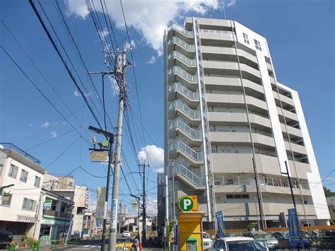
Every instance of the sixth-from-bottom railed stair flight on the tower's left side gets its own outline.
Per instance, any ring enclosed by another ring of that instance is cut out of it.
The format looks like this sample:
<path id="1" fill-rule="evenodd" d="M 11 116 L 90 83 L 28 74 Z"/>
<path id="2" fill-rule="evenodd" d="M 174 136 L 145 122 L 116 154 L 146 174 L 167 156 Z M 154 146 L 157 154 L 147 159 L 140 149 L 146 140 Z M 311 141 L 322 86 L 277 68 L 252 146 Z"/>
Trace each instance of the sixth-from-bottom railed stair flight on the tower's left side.
<path id="1" fill-rule="evenodd" d="M 180 66 L 173 66 L 169 69 L 168 74 L 170 83 L 183 83 L 184 86 L 187 86 L 187 88 L 192 91 L 195 91 L 196 88 L 198 88 L 198 76 L 189 74 L 187 71 L 180 68 Z"/>

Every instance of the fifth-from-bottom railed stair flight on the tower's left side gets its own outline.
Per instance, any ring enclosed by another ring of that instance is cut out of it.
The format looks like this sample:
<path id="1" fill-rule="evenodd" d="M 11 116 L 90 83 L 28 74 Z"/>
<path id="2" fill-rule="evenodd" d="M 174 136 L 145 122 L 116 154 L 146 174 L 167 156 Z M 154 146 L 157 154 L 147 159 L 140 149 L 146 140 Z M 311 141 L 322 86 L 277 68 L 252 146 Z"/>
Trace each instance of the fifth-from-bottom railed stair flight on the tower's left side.
<path id="1" fill-rule="evenodd" d="M 169 86 L 169 100 L 172 101 L 176 98 L 181 98 L 194 109 L 199 106 L 199 93 L 190 91 L 181 83 L 173 83 Z"/>

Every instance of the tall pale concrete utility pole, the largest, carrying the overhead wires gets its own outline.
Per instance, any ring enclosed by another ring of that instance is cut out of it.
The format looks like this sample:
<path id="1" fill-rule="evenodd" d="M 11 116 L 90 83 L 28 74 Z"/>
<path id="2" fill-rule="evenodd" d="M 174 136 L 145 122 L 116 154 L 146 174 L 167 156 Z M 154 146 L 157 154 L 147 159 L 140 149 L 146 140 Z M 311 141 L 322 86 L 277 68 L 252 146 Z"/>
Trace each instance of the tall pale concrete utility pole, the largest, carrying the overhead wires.
<path id="1" fill-rule="evenodd" d="M 115 149 L 115 163 L 114 163 L 114 177 L 113 177 L 113 193 L 112 193 L 112 206 L 110 215 L 110 245 L 108 251 L 116 250 L 117 247 L 117 202 L 119 200 L 119 175 L 121 166 L 121 146 L 122 146 L 122 123 L 123 123 L 123 110 L 124 110 L 124 96 L 126 91 L 126 78 L 125 78 L 125 66 L 126 66 L 126 48 L 122 55 L 122 83 L 120 88 L 120 100 L 119 100 L 119 117 L 117 120 L 117 146 Z"/>

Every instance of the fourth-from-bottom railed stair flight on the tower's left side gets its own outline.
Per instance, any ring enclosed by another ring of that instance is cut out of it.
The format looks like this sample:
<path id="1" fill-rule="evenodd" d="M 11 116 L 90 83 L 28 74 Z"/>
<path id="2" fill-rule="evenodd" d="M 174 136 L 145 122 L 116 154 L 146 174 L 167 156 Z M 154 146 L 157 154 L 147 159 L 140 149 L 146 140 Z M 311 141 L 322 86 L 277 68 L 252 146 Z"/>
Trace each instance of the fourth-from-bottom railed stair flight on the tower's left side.
<path id="1" fill-rule="evenodd" d="M 200 111 L 192 110 L 180 100 L 169 103 L 169 119 L 175 119 L 177 112 L 180 112 L 180 116 L 187 119 L 192 125 L 198 125 L 200 123 Z"/>

